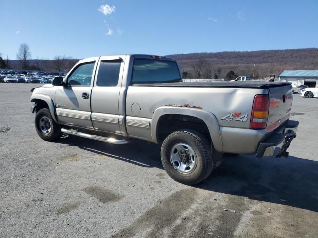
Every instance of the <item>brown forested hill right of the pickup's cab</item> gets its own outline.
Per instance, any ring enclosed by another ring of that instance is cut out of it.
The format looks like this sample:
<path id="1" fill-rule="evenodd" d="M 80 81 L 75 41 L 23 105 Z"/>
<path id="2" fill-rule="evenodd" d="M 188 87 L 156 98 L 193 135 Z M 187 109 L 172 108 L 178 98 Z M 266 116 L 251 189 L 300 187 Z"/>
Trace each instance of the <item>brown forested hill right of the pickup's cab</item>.
<path id="1" fill-rule="evenodd" d="M 200 60 L 205 63 L 203 78 L 210 76 L 209 71 L 216 73 L 218 68 L 221 68 L 223 76 L 229 70 L 234 70 L 237 75 L 252 75 L 254 64 L 255 77 L 260 78 L 270 73 L 279 74 L 286 69 L 318 69 L 318 48 L 190 53 L 168 57 L 177 60 L 182 71 L 187 71 L 190 77 L 194 77 Z"/>

